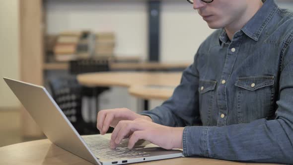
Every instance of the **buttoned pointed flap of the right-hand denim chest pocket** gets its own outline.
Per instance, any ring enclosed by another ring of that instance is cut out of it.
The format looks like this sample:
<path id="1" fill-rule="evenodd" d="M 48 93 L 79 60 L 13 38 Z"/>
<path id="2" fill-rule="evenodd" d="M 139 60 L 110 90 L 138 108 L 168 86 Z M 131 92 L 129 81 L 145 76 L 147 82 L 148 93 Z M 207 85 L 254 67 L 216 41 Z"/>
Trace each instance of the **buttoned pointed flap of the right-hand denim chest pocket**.
<path id="1" fill-rule="evenodd" d="M 250 91 L 274 84 L 274 76 L 239 77 L 235 85 Z"/>

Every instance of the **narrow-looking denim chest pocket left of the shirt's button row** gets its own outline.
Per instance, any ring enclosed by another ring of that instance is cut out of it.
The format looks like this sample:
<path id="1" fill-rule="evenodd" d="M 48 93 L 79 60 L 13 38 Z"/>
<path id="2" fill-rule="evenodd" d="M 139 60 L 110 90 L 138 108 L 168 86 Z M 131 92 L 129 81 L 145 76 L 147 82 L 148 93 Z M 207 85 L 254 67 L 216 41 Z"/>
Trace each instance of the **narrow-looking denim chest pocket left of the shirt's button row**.
<path id="1" fill-rule="evenodd" d="M 211 111 L 213 109 L 214 95 L 217 81 L 200 80 L 199 82 L 199 108 L 203 125 L 211 124 Z"/>

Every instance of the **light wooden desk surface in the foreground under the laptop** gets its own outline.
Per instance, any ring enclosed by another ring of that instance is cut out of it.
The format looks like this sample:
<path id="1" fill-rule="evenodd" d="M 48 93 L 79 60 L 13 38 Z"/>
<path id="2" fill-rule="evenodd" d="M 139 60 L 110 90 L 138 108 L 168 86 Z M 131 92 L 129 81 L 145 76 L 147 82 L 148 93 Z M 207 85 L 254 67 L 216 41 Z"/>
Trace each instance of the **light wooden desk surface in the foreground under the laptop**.
<path id="1" fill-rule="evenodd" d="M 67 152 L 48 139 L 18 143 L 0 148 L 0 165 L 92 165 Z M 132 165 L 257 165 L 208 158 L 174 158 Z M 269 165 L 269 164 L 258 164 Z M 273 165 L 273 164 L 271 164 Z"/>

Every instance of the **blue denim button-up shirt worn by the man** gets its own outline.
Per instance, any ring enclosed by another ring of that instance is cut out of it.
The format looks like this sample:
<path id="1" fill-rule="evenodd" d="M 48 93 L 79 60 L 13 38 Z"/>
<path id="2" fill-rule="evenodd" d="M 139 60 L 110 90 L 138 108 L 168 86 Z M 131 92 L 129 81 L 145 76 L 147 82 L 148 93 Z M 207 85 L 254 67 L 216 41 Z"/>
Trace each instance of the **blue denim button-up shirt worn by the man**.
<path id="1" fill-rule="evenodd" d="M 266 0 L 229 41 L 200 46 L 173 95 L 143 115 L 185 127 L 184 156 L 293 164 L 293 13 Z"/>

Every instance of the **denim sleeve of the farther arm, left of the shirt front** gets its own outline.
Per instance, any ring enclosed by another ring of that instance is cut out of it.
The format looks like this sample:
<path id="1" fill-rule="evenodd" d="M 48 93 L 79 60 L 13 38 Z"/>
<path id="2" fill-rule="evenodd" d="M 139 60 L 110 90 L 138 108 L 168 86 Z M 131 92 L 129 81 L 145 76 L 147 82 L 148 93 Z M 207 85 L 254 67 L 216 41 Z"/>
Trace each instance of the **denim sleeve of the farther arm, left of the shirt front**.
<path id="1" fill-rule="evenodd" d="M 153 122 L 170 126 L 183 127 L 201 124 L 199 114 L 199 73 L 196 67 L 197 52 L 194 63 L 183 71 L 181 82 L 175 88 L 172 96 L 162 105 L 150 111 L 143 111 L 142 115 L 149 116 Z"/>

